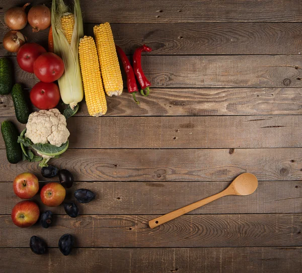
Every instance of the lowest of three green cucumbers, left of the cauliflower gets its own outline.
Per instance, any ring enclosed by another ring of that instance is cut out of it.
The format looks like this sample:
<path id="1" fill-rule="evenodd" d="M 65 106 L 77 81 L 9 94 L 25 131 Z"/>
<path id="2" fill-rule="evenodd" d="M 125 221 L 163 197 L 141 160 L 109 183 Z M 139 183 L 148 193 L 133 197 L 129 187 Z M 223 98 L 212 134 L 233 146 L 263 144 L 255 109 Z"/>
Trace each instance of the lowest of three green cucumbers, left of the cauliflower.
<path id="1" fill-rule="evenodd" d="M 12 164 L 17 164 L 23 158 L 21 145 L 17 142 L 18 131 L 13 123 L 4 121 L 1 124 L 1 132 L 7 150 L 8 161 Z"/>

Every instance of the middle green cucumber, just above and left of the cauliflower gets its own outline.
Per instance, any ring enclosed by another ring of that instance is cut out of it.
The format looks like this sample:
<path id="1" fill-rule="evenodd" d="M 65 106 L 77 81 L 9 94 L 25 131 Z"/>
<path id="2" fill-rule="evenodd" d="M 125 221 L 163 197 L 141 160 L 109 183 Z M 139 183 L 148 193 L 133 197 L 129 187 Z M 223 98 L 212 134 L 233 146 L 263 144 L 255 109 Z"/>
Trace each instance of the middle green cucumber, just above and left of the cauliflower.
<path id="1" fill-rule="evenodd" d="M 29 116 L 28 105 L 25 101 L 24 93 L 20 83 L 13 86 L 12 98 L 15 107 L 17 120 L 23 124 L 27 123 Z"/>

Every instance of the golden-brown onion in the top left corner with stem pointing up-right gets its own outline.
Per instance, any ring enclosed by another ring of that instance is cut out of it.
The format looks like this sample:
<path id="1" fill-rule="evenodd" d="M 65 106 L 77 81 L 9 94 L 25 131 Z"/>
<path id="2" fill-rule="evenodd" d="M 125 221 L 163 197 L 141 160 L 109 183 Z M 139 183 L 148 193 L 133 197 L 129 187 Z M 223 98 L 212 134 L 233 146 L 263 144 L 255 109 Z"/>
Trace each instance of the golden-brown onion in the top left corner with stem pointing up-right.
<path id="1" fill-rule="evenodd" d="M 25 13 L 25 8 L 30 5 L 26 3 L 23 8 L 14 7 L 9 10 L 4 15 L 4 22 L 6 25 L 13 30 L 24 29 L 27 24 L 27 15 Z"/>

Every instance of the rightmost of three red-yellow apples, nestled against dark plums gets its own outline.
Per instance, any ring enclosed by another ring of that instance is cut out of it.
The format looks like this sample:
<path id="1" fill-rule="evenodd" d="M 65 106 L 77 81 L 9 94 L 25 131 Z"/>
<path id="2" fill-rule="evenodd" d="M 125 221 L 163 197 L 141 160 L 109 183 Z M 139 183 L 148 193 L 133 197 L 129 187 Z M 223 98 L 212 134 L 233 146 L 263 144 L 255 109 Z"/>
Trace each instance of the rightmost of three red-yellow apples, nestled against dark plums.
<path id="1" fill-rule="evenodd" d="M 65 188 L 59 183 L 48 183 L 41 189 L 41 200 L 48 207 L 59 206 L 66 195 Z"/>

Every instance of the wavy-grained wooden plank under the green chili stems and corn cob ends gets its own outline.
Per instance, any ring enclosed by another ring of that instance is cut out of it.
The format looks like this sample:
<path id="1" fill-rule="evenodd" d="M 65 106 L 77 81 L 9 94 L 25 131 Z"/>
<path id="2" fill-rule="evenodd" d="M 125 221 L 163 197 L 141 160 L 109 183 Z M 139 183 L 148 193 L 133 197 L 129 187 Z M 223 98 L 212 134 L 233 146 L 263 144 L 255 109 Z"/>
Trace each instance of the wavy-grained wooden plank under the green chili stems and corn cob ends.
<path id="1" fill-rule="evenodd" d="M 122 96 L 106 97 L 106 116 L 298 115 L 300 93 L 300 88 L 152 88 L 147 98 L 137 96 L 138 106 L 125 89 Z M 9 116 L 15 116 L 12 98 L 0 96 L 0 117 Z M 85 101 L 76 116 L 89 116 Z"/>

